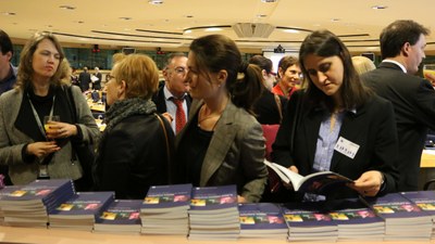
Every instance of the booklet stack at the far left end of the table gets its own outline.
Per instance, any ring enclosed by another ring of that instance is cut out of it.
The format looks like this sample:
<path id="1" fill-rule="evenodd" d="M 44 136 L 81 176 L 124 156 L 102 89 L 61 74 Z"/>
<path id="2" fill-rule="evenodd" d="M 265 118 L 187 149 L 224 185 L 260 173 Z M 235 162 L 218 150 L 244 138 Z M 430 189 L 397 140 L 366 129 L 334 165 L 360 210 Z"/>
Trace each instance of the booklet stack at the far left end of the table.
<path id="1" fill-rule="evenodd" d="M 0 200 L 4 223 L 16 227 L 45 227 L 48 213 L 74 195 L 72 180 L 35 180 Z"/>

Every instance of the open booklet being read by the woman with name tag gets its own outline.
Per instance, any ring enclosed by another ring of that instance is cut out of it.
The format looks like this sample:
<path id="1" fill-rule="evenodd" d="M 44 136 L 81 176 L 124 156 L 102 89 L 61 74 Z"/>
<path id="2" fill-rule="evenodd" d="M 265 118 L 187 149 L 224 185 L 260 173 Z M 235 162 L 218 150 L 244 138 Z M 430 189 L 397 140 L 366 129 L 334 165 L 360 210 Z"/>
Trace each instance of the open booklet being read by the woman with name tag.
<path id="1" fill-rule="evenodd" d="M 353 180 L 333 171 L 319 171 L 308 176 L 301 176 L 288 168 L 264 159 L 264 164 L 286 183 L 291 183 L 295 191 L 327 195 L 335 187 L 351 183 Z"/>

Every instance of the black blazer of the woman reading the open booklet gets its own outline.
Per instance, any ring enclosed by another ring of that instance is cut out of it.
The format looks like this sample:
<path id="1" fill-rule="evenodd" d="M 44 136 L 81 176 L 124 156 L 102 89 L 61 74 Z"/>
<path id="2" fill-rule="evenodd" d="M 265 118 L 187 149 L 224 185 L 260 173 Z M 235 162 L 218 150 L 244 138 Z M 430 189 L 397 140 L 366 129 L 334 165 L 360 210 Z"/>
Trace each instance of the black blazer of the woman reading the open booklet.
<path id="1" fill-rule="evenodd" d="M 295 92 L 287 105 L 287 113 L 273 144 L 273 158 L 279 165 L 295 165 L 302 176 L 313 172 L 315 149 L 319 130 L 324 118 L 323 111 L 311 106 L 302 100 L 304 93 Z M 291 131 L 297 101 L 302 102 L 299 120 L 295 131 L 291 149 Z M 353 159 L 334 151 L 331 171 L 338 172 L 357 180 L 363 172 L 380 170 L 384 174 L 386 189 L 382 192 L 394 192 L 397 188 L 398 175 L 395 168 L 398 153 L 398 140 L 394 120 L 393 105 L 388 101 L 373 95 L 365 104 L 357 107 L 357 113 L 347 112 L 339 131 L 343 137 L 360 147 Z M 339 191 L 339 192 L 338 192 Z M 351 189 L 337 190 L 335 197 L 355 197 L 357 192 Z"/>

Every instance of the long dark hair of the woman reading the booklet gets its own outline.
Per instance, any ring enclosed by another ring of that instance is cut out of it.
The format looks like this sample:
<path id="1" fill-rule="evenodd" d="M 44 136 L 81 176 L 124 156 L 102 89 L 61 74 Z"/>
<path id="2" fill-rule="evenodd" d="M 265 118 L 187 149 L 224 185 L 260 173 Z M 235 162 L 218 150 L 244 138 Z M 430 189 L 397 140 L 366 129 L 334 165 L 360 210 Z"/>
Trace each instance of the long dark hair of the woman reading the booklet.
<path id="1" fill-rule="evenodd" d="M 308 75 L 304 67 L 304 60 L 310 54 L 323 57 L 338 56 L 341 60 L 344 75 L 339 92 L 343 105 L 345 106 L 344 108 L 352 110 L 365 102 L 371 92 L 363 87 L 352 65 L 349 50 L 337 36 L 328 30 L 316 30 L 306 37 L 299 51 L 300 67 L 308 80 L 307 95 L 311 101 L 315 104 L 323 102 L 330 111 L 333 111 L 335 106 L 333 99 L 316 88 Z"/>

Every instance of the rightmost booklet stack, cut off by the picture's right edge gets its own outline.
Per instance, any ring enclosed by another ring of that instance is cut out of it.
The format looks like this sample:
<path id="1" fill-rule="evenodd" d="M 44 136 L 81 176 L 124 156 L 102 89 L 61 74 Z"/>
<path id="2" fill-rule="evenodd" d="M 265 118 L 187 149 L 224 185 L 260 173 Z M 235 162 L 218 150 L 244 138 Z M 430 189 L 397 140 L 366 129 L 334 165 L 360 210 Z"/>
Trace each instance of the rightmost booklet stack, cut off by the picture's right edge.
<path id="1" fill-rule="evenodd" d="M 434 226 L 431 239 L 435 239 L 435 191 L 402 192 L 401 194 L 432 217 Z"/>

